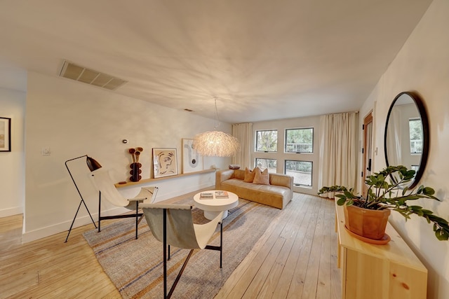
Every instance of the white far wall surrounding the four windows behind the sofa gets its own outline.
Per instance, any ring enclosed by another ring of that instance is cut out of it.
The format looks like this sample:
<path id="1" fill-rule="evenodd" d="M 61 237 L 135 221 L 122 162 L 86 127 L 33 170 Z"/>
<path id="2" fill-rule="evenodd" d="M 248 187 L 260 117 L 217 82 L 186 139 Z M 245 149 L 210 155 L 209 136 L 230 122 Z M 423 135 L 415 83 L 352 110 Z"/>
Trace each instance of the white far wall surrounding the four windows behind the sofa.
<path id="1" fill-rule="evenodd" d="M 314 128 L 314 153 L 285 153 L 284 141 L 286 129 L 294 129 L 301 127 Z M 261 153 L 254 152 L 255 149 L 255 131 L 257 130 L 278 130 L 278 148 L 276 153 Z M 319 132 L 320 132 L 320 116 L 310 116 L 304 118 L 286 118 L 283 120 L 267 120 L 253 123 L 253 154 L 252 165 L 255 163 L 255 158 L 276 159 L 277 172 L 284 173 L 285 160 L 300 160 L 311 161 L 313 165 L 312 170 L 312 187 L 298 187 L 295 186 L 293 190 L 300 193 L 307 193 L 316 195 L 318 192 L 318 172 L 319 172 Z"/>

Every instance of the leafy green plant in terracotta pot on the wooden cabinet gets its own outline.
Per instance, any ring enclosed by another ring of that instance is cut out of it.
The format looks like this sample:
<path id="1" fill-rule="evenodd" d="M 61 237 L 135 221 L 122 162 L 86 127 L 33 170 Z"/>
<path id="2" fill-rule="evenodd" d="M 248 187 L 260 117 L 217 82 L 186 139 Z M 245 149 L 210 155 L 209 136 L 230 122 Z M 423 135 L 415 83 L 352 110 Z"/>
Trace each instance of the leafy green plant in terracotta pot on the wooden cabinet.
<path id="1" fill-rule="evenodd" d="M 408 205 L 410 200 L 420 198 L 438 200 L 434 196 L 435 190 L 433 188 L 420 186 L 409 190 L 407 186 L 414 176 L 415 170 L 408 170 L 405 166 L 388 166 L 366 179 L 365 182 L 368 185 L 366 195 L 355 195 L 353 188 L 348 189 L 344 186 L 323 187 L 318 194 L 337 193 L 335 195 L 337 204 L 344 205 L 345 225 L 348 230 L 357 235 L 370 239 L 381 239 L 384 236 L 390 211 L 397 211 L 406 220 L 412 214 L 424 217 L 428 223 L 434 223 L 434 232 L 437 239 L 448 240 L 448 221 L 434 215 L 428 209 L 423 209 L 417 205 Z M 371 216 L 371 214 L 381 214 L 379 224 L 375 224 L 373 220 L 377 216 Z M 362 226 L 356 227 L 359 224 Z M 377 230 L 379 226 L 380 231 Z M 368 235 L 365 235 L 366 233 Z"/>

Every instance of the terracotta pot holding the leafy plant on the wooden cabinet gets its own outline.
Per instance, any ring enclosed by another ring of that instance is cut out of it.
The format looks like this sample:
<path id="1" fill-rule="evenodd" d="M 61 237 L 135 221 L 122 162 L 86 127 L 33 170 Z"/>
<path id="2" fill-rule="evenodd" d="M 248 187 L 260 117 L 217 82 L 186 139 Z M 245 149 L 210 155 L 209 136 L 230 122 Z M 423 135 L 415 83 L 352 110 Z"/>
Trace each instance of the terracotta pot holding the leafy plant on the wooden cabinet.
<path id="1" fill-rule="evenodd" d="M 390 213 L 389 209 L 372 210 L 344 205 L 344 223 L 356 235 L 382 239 Z"/>

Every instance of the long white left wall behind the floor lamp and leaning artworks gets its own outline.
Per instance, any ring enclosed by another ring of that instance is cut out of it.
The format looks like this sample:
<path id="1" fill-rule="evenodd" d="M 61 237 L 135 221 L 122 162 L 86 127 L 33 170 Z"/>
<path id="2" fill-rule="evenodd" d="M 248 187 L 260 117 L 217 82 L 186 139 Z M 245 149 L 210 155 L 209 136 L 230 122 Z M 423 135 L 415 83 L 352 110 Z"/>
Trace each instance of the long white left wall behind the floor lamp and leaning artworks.
<path id="1" fill-rule="evenodd" d="M 187 100 L 187 99 L 186 99 Z M 182 138 L 211 130 L 214 120 L 192 113 L 118 95 L 90 85 L 29 72 L 26 101 L 25 234 L 24 241 L 67 230 L 80 198 L 65 168 L 65 160 L 88 154 L 111 169 L 116 181 L 128 181 L 128 148 L 144 148 L 142 178 L 152 174 L 152 148 L 177 148 L 181 173 Z M 231 125 L 224 124 L 231 132 Z M 128 139 L 123 144 L 122 139 Z M 42 148 L 51 155 L 43 156 Z M 230 158 L 205 158 L 204 168 L 226 168 Z M 98 193 L 88 177 L 85 160 L 70 163 L 74 177 L 94 219 Z M 149 184 L 159 186 L 158 199 L 215 184 L 215 173 L 183 176 Z M 140 186 L 119 189 L 135 196 Z M 105 209 L 113 209 L 110 204 Z M 103 210 L 103 209 L 102 209 Z M 109 211 L 117 213 L 121 211 Z M 83 207 L 75 227 L 90 223 Z"/>

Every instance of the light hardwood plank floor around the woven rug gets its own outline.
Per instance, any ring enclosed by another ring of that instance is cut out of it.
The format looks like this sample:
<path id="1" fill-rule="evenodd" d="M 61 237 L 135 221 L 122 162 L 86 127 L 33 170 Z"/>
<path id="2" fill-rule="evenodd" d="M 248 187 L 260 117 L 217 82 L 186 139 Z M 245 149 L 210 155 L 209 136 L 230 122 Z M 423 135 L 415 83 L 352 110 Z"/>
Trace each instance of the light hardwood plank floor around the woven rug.
<path id="1" fill-rule="evenodd" d="M 333 200 L 295 193 L 215 298 L 340 298 L 334 223 Z M 22 216 L 0 218 L 0 298 L 121 298 L 82 235 L 93 228 L 20 244 Z"/>

